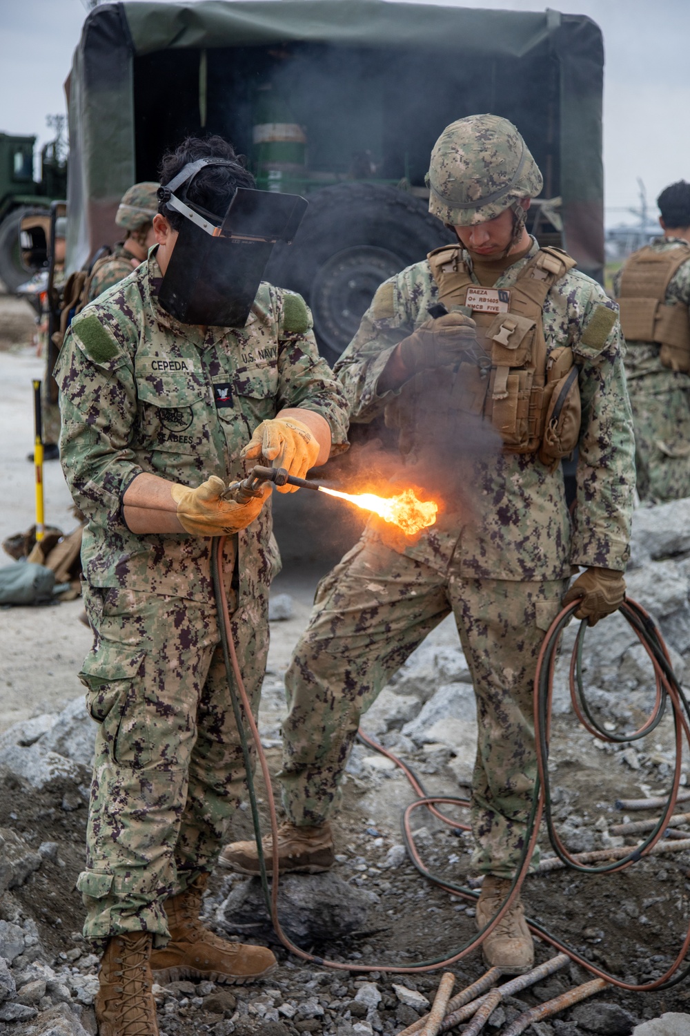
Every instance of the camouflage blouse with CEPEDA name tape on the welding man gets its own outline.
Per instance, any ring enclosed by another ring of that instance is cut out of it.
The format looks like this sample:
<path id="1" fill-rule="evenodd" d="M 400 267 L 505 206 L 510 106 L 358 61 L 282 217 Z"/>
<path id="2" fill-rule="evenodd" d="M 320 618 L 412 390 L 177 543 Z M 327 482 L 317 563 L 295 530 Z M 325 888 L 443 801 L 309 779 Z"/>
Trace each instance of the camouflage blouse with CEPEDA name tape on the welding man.
<path id="1" fill-rule="evenodd" d="M 160 279 L 152 252 L 73 320 L 55 370 L 60 453 L 88 518 L 87 581 L 208 601 L 211 540 L 130 533 L 121 509 L 127 486 L 142 471 L 188 486 L 211 474 L 243 478 L 242 447 L 283 407 L 321 413 L 339 453 L 348 405 L 300 295 L 262 283 L 244 327 L 202 335 L 158 305 Z M 241 596 L 268 587 L 271 527 L 269 500 L 239 534 Z"/>

